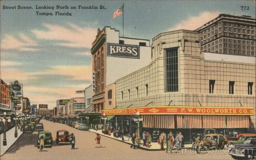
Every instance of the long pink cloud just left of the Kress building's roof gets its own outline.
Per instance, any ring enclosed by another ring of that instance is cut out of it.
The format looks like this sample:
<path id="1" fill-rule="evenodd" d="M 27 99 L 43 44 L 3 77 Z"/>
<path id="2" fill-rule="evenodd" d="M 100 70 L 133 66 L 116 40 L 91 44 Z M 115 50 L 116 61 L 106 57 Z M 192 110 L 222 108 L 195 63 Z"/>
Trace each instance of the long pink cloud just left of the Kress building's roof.
<path id="1" fill-rule="evenodd" d="M 70 28 L 61 25 L 43 24 L 48 31 L 32 30 L 39 39 L 62 40 L 67 42 L 58 43 L 74 48 L 91 48 L 96 36 L 96 28 L 79 27 L 69 23 Z"/>

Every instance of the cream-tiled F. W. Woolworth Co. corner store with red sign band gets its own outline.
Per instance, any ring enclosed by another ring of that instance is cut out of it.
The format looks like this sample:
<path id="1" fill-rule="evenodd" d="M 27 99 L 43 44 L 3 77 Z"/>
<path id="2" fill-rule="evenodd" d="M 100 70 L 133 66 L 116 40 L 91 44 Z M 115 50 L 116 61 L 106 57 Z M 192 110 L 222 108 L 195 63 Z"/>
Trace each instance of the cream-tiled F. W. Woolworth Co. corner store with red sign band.
<path id="1" fill-rule="evenodd" d="M 108 123 L 127 133 L 182 132 L 227 137 L 255 132 L 255 57 L 201 52 L 197 31 L 170 31 L 153 38 L 151 62 L 116 80 L 115 115 Z"/>

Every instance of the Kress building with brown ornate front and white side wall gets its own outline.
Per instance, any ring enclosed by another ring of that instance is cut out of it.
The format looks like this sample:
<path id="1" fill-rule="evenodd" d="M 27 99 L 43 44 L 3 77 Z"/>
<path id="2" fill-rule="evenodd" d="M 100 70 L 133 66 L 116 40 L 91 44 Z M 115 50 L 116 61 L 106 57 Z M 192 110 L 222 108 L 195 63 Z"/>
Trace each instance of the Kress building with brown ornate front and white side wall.
<path id="1" fill-rule="evenodd" d="M 106 26 L 98 29 L 91 53 L 93 111 L 100 112 L 106 106 L 106 86 L 149 64 L 149 40 L 119 37 L 119 31 Z"/>

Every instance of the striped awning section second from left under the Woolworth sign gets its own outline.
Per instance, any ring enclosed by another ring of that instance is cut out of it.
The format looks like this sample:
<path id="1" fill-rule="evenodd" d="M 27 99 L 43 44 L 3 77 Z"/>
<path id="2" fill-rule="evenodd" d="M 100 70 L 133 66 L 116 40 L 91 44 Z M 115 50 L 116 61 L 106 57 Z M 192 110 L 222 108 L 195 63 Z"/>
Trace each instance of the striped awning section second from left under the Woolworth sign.
<path id="1" fill-rule="evenodd" d="M 202 128 L 201 115 L 177 115 L 177 128 Z"/>

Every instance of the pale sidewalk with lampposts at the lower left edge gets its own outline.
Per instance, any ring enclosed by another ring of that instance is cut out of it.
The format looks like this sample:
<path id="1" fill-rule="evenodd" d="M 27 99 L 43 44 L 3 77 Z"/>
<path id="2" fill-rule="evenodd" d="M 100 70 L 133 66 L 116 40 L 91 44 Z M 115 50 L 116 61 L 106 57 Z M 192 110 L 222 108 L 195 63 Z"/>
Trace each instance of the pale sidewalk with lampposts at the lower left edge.
<path id="1" fill-rule="evenodd" d="M 14 137 L 15 133 L 15 127 L 10 129 L 6 132 L 6 142 L 7 145 L 3 146 L 3 133 L 0 135 L 0 156 L 5 154 L 5 152 L 12 146 L 13 143 L 22 135 L 23 131 L 20 131 L 20 129 L 17 129 L 18 136 L 17 138 Z"/>

